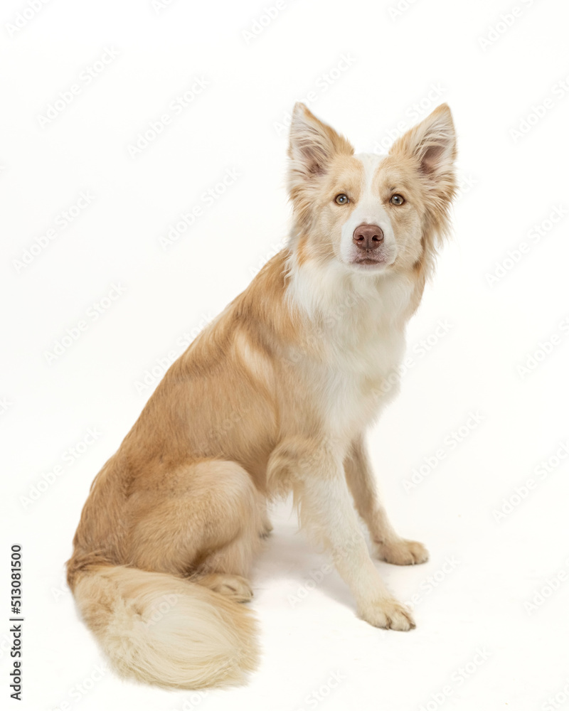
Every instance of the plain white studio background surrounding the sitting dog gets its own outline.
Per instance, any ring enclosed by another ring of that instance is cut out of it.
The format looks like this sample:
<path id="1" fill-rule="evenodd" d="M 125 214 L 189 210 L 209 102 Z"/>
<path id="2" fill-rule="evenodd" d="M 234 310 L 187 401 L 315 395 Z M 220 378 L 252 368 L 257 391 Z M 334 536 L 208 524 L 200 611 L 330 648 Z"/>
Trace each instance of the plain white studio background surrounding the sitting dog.
<path id="1" fill-rule="evenodd" d="M 286 0 L 267 23 L 273 0 L 50 0 L 16 30 L 26 0 L 2 4 L 2 707 L 569 709 L 568 459 L 555 454 L 567 456 L 569 437 L 569 13 L 562 0 L 393 11 L 395 1 Z M 116 58 L 97 65 L 108 50 Z M 175 114 L 196 78 L 207 86 Z M 178 355 L 182 334 L 223 309 L 287 234 L 279 124 L 311 91 L 309 107 L 360 151 L 381 151 L 398 124 L 443 101 L 457 127 L 454 239 L 409 327 L 413 368 L 369 437 L 395 525 L 430 548 L 426 565 L 377 563 L 400 599 L 418 595 L 417 629 L 358 620 L 335 572 L 310 582 L 326 559 L 283 505 L 253 577 L 264 656 L 248 687 L 201 696 L 110 671 L 99 680 L 102 658 L 63 577 L 80 509 L 154 387 L 137 381 Z M 131 156 L 165 113 L 170 124 Z M 206 205 L 228 169 L 240 176 Z M 81 193 L 90 204 L 62 226 Z M 195 205 L 201 216 L 163 249 Z M 126 291 L 101 301 L 113 284 Z M 82 319 L 87 330 L 48 358 Z M 442 337 L 439 321 L 450 324 Z M 483 419 L 468 429 L 470 412 Z M 97 438 L 82 445 L 88 429 Z M 12 543 L 24 561 L 19 704 Z"/>

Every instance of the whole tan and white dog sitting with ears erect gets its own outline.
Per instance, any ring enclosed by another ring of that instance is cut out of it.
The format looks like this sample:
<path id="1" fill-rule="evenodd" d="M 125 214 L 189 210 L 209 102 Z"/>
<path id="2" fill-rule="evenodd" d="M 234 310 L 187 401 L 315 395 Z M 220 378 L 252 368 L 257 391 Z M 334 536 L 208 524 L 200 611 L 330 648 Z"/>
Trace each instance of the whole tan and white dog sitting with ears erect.
<path id="1" fill-rule="evenodd" d="M 358 514 L 378 558 L 427 560 L 388 520 L 364 433 L 398 391 L 405 326 L 450 232 L 452 115 L 440 105 L 380 157 L 354 154 L 297 103 L 288 155 L 287 247 L 171 365 L 73 540 L 80 614 L 115 669 L 146 683 L 238 685 L 255 669 L 255 619 L 239 603 L 267 502 L 289 493 L 361 619 L 415 627 Z"/>

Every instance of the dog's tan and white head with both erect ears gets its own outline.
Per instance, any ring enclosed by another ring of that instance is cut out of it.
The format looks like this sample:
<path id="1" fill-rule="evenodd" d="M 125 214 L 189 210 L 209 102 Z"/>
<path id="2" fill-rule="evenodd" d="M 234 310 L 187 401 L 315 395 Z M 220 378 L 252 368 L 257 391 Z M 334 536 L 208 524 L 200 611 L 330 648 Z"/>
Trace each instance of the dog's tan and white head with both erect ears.
<path id="1" fill-rule="evenodd" d="M 349 141 L 295 105 L 288 186 L 299 263 L 336 260 L 363 274 L 429 265 L 448 230 L 455 156 L 446 104 L 383 158 L 354 155 Z"/>

